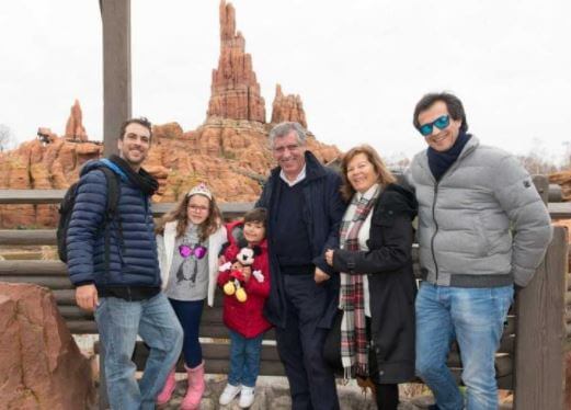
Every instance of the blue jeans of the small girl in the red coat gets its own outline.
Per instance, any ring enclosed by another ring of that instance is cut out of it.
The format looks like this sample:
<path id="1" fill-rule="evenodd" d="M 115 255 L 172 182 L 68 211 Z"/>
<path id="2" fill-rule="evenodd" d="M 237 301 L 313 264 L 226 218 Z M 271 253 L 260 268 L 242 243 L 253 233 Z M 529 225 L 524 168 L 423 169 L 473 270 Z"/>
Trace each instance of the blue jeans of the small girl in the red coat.
<path id="1" fill-rule="evenodd" d="M 232 386 L 254 387 L 260 374 L 260 352 L 263 334 L 247 339 L 230 330 L 230 373 L 228 383 Z"/>

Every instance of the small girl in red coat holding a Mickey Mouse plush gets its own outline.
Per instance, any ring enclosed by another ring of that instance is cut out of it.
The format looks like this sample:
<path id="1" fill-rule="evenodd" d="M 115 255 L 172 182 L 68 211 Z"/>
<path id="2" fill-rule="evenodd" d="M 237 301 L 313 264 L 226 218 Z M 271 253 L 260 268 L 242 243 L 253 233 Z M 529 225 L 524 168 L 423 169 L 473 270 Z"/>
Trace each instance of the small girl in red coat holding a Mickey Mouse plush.
<path id="1" fill-rule="evenodd" d="M 252 406 L 254 386 L 260 373 L 260 353 L 264 332 L 272 326 L 262 315 L 265 299 L 270 294 L 270 264 L 267 261 L 267 243 L 265 240 L 266 212 L 255 208 L 244 215 L 243 223 L 231 223 L 227 226 L 229 246 L 224 252 L 224 260 L 232 264 L 224 266 L 218 274 L 218 285 L 224 287 L 233 282 L 236 269 L 240 286 L 245 292 L 243 297 L 237 294 L 225 295 L 224 322 L 230 330 L 230 373 L 228 384 L 220 395 L 219 402 L 229 405 L 240 394 L 240 408 Z M 243 236 L 243 238 L 242 238 Z M 254 252 L 251 265 L 243 266 L 235 262 L 240 250 L 248 247 Z"/>

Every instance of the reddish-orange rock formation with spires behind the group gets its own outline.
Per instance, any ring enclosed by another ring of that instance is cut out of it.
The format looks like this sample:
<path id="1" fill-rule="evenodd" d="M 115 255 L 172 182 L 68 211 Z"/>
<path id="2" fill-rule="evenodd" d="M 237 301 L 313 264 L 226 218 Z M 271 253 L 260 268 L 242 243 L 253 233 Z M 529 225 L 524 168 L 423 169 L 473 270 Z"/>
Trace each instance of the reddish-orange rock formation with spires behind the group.
<path id="1" fill-rule="evenodd" d="M 220 2 L 220 57 L 213 72 L 208 115 L 194 130 L 178 123 L 153 127 L 153 144 L 144 167 L 159 180 L 156 202 L 174 202 L 195 183 L 207 182 L 219 202 L 252 202 L 274 167 L 267 146 L 272 125 L 297 121 L 307 127 L 298 95 L 284 95 L 277 86 L 272 123 L 265 122 L 264 100 L 244 52 L 244 38 L 236 31 L 236 11 Z M 0 189 L 67 189 L 77 181 L 88 160 L 100 158 L 103 146 L 89 140 L 78 101 L 62 137 L 41 128 L 43 139 L 0 152 Z M 308 148 L 322 162 L 340 156 L 334 146 L 319 143 L 309 133 Z M 53 227 L 56 205 L 0 205 L 0 227 Z"/>

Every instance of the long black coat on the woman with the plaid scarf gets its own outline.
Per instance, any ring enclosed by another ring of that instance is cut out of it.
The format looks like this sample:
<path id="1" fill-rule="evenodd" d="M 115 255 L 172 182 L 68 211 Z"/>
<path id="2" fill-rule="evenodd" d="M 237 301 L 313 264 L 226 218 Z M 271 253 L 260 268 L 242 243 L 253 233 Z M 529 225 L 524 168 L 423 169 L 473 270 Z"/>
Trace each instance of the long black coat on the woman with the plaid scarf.
<path id="1" fill-rule="evenodd" d="M 390 184 L 379 195 L 370 220 L 369 251 L 335 250 L 333 267 L 367 274 L 370 333 L 379 383 L 403 383 L 414 377 L 414 297 L 411 221 L 414 195 Z"/>

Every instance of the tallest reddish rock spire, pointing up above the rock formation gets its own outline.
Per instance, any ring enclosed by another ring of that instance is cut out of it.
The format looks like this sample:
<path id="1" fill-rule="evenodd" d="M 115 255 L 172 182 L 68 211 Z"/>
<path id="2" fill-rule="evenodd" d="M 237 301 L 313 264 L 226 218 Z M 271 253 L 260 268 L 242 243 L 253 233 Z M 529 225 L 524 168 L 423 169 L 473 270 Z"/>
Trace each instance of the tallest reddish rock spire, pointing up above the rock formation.
<path id="1" fill-rule="evenodd" d="M 236 32 L 236 10 L 220 1 L 220 57 L 213 70 L 208 117 L 248 119 L 265 123 L 265 102 L 245 53 L 245 39 Z"/>

